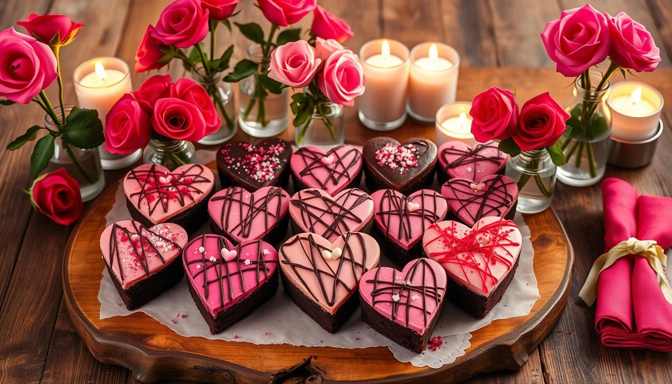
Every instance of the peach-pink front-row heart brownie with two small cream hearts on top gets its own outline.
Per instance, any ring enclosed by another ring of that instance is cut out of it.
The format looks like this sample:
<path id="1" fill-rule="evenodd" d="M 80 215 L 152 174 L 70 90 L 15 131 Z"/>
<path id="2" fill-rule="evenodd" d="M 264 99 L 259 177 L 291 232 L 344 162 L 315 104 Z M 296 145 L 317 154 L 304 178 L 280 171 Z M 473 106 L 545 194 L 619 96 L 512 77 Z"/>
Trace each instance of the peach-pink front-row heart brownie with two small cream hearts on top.
<path id="1" fill-rule="evenodd" d="M 364 272 L 378 266 L 380 248 L 366 233 L 349 232 L 329 241 L 299 233 L 280 246 L 280 268 L 290 297 L 317 323 L 335 332 L 356 307 Z M 353 300 L 349 300 L 349 299 Z M 344 312 L 340 313 L 342 307 Z"/>

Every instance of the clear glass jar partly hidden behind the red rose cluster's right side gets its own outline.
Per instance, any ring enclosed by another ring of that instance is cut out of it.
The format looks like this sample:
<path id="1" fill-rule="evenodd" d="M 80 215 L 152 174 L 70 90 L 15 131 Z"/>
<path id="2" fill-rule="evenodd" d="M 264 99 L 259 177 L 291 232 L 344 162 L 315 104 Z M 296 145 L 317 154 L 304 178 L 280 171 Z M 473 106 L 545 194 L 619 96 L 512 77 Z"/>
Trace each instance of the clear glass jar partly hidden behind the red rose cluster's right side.
<path id="1" fill-rule="evenodd" d="M 212 135 L 208 135 L 198 141 L 204 145 L 215 145 L 230 140 L 238 131 L 238 120 L 236 119 L 236 103 L 233 98 L 233 88 L 229 83 L 222 81 L 221 72 L 206 73 L 201 63 L 192 67 L 192 79 L 203 85 L 212 98 L 214 108 L 222 120 L 219 130 Z"/>

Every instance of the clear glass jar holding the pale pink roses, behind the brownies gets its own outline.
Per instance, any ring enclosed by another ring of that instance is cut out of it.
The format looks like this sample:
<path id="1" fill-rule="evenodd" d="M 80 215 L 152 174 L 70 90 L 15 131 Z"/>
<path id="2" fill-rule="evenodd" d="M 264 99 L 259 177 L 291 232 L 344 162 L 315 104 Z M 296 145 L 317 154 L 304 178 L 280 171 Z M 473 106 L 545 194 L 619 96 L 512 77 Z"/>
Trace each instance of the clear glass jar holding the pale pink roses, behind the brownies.
<path id="1" fill-rule="evenodd" d="M 320 102 L 312 118 L 296 127 L 294 139 L 298 147 L 313 145 L 330 149 L 344 143 L 343 107 L 332 102 Z"/>

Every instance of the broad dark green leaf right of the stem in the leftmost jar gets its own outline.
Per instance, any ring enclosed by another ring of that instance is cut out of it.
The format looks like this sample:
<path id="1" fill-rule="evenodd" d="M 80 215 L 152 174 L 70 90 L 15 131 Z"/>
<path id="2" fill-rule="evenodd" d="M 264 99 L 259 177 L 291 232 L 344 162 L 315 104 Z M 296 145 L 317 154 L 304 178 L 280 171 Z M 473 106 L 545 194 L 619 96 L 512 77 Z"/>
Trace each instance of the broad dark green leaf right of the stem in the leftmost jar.
<path id="1" fill-rule="evenodd" d="M 63 127 L 63 137 L 81 149 L 98 147 L 105 141 L 103 123 L 98 118 L 97 110 L 73 108 Z"/>

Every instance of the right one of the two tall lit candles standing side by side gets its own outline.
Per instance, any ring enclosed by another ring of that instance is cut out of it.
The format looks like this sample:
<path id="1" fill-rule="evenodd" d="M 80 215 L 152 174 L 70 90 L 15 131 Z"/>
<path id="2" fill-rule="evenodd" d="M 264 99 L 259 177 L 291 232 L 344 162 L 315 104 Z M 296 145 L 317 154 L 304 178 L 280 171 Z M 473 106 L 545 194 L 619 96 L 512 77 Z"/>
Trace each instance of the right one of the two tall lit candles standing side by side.
<path id="1" fill-rule="evenodd" d="M 435 121 L 441 106 L 455 101 L 460 55 L 446 44 L 425 42 L 411 50 L 408 111 L 424 124 Z"/>

